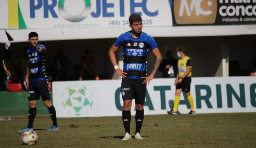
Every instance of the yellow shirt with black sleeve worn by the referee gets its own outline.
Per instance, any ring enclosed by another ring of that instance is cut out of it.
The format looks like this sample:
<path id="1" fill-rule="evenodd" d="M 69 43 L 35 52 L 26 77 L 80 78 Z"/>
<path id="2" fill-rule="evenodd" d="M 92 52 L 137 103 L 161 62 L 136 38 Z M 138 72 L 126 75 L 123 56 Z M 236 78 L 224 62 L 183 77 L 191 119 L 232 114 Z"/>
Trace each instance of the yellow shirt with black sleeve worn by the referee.
<path id="1" fill-rule="evenodd" d="M 178 60 L 178 77 L 181 78 L 185 74 L 188 68 L 189 69 L 192 68 L 192 61 L 189 57 L 186 56 L 184 59 Z M 192 74 L 190 70 L 187 77 L 191 77 L 191 76 Z"/>

